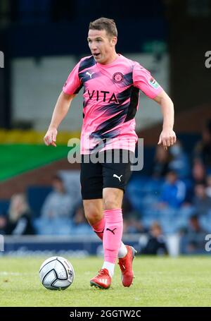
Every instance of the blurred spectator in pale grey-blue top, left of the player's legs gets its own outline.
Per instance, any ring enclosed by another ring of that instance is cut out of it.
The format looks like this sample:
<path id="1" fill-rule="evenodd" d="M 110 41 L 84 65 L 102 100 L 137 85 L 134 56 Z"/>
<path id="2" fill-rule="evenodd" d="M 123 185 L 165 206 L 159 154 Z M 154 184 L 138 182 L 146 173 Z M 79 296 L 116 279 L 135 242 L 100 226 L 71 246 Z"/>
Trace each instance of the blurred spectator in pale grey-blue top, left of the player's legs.
<path id="1" fill-rule="evenodd" d="M 71 217 L 74 211 L 73 200 L 65 190 L 60 176 L 53 176 L 53 191 L 49 193 L 41 208 L 41 217 Z"/>

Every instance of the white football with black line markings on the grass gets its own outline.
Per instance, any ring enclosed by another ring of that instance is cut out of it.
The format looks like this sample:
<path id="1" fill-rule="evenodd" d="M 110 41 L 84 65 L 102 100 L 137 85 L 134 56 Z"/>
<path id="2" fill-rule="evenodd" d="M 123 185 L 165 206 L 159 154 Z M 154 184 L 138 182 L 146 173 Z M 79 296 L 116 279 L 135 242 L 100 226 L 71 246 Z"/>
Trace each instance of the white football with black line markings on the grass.
<path id="1" fill-rule="evenodd" d="M 75 277 L 71 263 L 61 256 L 52 256 L 45 260 L 40 269 L 41 284 L 49 290 L 65 290 Z"/>

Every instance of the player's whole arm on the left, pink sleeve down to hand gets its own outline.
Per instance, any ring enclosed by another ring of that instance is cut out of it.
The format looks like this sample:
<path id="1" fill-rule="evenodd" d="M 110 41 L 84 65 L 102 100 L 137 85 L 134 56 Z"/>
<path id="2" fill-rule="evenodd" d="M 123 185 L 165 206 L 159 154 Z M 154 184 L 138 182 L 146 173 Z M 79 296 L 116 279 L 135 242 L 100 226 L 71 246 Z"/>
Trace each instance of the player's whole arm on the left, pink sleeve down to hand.
<path id="1" fill-rule="evenodd" d="M 63 91 L 60 93 L 56 102 L 49 129 L 44 136 L 44 143 L 47 146 L 53 145 L 56 147 L 57 128 L 61 121 L 63 121 L 63 119 L 65 118 L 66 114 L 68 114 L 72 99 L 76 96 L 76 94 L 82 87 L 82 83 L 79 80 L 78 73 L 79 63 L 77 63 L 75 68 L 72 69 L 67 81 L 65 82 L 65 85 L 63 86 Z"/>

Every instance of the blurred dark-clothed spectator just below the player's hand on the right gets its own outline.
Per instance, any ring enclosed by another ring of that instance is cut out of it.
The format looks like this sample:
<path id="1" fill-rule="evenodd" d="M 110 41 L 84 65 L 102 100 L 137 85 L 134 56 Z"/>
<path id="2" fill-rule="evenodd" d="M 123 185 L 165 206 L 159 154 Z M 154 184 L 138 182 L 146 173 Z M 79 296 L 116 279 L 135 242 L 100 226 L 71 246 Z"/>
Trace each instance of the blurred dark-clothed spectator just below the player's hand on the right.
<path id="1" fill-rule="evenodd" d="M 155 150 L 155 158 L 153 161 L 153 169 L 151 175 L 154 178 L 162 178 L 169 170 L 170 153 L 161 145 L 158 145 Z"/>

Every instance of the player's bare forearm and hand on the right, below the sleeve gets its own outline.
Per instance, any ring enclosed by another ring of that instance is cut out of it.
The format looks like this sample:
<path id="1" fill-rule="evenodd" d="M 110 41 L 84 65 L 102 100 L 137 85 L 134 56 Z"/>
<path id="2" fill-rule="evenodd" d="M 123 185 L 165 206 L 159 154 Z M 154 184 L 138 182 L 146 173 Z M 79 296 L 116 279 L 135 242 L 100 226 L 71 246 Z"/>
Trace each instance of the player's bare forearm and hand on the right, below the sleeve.
<path id="1" fill-rule="evenodd" d="M 162 92 L 160 92 L 155 98 L 153 98 L 153 100 L 160 104 L 163 116 L 162 132 L 160 133 L 158 145 L 162 144 L 165 150 L 167 150 L 167 147 L 174 145 L 177 140 L 176 134 L 173 131 L 174 104 L 172 102 L 172 99 L 164 90 L 162 90 Z"/>

